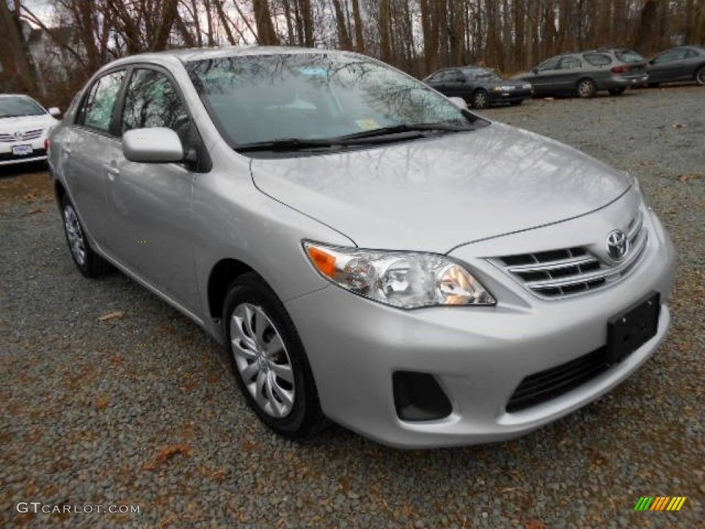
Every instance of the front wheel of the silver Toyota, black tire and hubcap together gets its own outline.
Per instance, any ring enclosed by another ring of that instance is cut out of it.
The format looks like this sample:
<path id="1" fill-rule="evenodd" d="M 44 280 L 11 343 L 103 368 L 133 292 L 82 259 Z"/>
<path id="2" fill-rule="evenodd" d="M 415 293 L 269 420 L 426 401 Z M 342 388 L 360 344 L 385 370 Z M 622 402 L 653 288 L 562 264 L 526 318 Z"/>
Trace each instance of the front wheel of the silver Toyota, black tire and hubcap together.
<path id="1" fill-rule="evenodd" d="M 298 332 L 281 301 L 257 274 L 244 274 L 228 287 L 223 335 L 238 386 L 264 424 L 288 439 L 308 437 L 325 425 Z M 247 341 L 248 336 L 254 339 Z M 259 348 L 251 348 L 257 341 L 262 342 Z M 276 347 L 278 343 L 283 344 L 281 348 Z M 283 413 L 287 406 L 290 409 Z"/>

